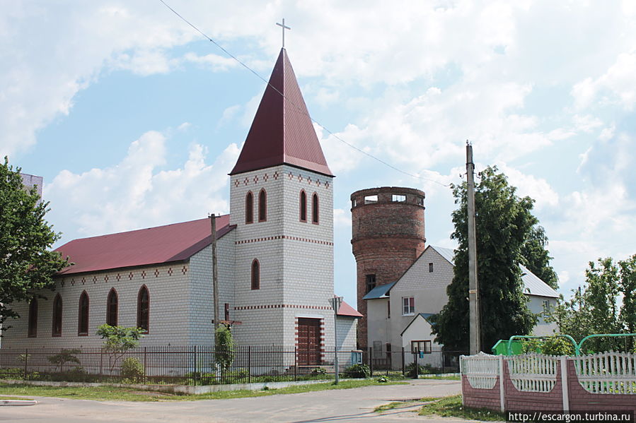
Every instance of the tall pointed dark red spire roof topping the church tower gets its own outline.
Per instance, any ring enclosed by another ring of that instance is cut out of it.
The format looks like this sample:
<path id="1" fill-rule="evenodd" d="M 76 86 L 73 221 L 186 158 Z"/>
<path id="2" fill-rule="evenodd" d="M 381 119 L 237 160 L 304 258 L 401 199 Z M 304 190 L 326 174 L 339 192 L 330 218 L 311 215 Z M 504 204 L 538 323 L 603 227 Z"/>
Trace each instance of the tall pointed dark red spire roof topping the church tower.
<path id="1" fill-rule="evenodd" d="M 230 174 L 283 164 L 333 176 L 285 49 L 280 50 L 248 138 Z"/>

